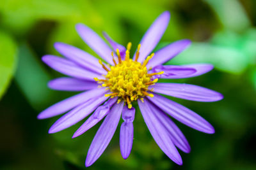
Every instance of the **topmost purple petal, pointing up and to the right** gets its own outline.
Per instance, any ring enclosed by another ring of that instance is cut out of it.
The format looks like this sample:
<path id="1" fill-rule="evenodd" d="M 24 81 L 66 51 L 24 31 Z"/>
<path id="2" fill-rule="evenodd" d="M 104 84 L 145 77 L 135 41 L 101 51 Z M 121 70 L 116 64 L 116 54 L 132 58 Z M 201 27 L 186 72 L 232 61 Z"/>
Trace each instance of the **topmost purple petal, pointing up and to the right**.
<path id="1" fill-rule="evenodd" d="M 157 43 L 162 38 L 166 27 L 170 20 L 170 12 L 164 11 L 159 17 L 156 18 L 154 23 L 150 26 L 148 31 L 144 34 L 140 41 L 140 57 L 138 62 L 142 62 L 152 50 L 156 47 Z M 133 57 L 135 59 L 135 55 Z"/>

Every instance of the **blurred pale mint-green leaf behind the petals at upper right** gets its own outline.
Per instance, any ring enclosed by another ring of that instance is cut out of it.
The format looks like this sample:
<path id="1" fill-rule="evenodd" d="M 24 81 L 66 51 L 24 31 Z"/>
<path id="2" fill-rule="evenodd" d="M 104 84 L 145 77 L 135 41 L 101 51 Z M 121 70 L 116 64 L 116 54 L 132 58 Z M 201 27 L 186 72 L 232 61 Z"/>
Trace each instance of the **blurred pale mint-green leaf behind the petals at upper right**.
<path id="1" fill-rule="evenodd" d="M 209 43 L 193 43 L 188 50 L 180 53 L 167 64 L 211 63 L 221 71 L 241 73 L 246 69 L 248 60 L 243 52 Z"/>

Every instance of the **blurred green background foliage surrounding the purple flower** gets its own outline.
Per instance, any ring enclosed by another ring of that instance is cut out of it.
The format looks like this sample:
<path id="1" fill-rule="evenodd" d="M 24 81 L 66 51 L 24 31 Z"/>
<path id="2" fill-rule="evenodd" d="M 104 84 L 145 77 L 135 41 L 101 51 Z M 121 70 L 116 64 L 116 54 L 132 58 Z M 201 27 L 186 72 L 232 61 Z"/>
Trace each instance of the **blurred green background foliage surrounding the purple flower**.
<path id="1" fill-rule="evenodd" d="M 134 144 L 129 159 L 119 150 L 119 130 L 88 169 L 256 169 L 256 1 L 255 0 L 1 0 L 0 1 L 0 169 L 85 169 L 84 160 L 99 125 L 76 139 L 81 123 L 48 134 L 58 117 L 36 115 L 72 92 L 47 88 L 61 76 L 40 60 L 58 53 L 61 41 L 93 53 L 75 31 L 84 23 L 132 50 L 163 11 L 172 17 L 156 50 L 178 39 L 193 45 L 168 64 L 209 62 L 210 73 L 172 82 L 193 83 L 221 92 L 216 103 L 178 101 L 215 127 L 204 134 L 180 124 L 191 145 L 175 165 L 156 145 L 140 113 L 134 120 Z M 97 56 L 95 53 L 93 55 Z"/>

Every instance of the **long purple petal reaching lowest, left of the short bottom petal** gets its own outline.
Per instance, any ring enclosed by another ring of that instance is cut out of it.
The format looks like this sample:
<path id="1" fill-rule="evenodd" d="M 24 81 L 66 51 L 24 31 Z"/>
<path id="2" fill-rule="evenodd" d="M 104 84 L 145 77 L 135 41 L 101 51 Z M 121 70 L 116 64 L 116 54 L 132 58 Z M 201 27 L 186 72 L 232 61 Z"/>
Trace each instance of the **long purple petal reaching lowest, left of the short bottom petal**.
<path id="1" fill-rule="evenodd" d="M 111 111 L 109 111 L 102 125 L 100 125 L 100 128 L 94 136 L 92 144 L 88 150 L 85 161 L 86 167 L 91 166 L 97 159 L 99 159 L 100 155 L 107 148 L 116 131 L 123 108 L 124 102 L 119 104 L 116 103 L 113 108 L 111 108 Z"/>

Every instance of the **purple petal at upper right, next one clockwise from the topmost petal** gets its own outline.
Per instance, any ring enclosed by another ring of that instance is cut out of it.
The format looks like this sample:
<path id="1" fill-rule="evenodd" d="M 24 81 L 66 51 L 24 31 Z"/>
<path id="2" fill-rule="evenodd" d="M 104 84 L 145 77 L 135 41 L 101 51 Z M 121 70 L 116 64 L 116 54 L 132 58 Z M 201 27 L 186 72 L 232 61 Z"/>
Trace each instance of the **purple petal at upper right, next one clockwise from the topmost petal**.
<path id="1" fill-rule="evenodd" d="M 188 46 L 191 44 L 191 41 L 189 39 L 182 39 L 179 41 L 175 41 L 174 43 L 171 43 L 168 46 L 165 46 L 161 50 L 158 50 L 154 57 L 149 60 L 147 67 L 154 67 L 160 64 L 164 64 L 164 62 L 167 62 L 168 60 L 172 59 L 176 55 L 178 55 L 180 52 L 188 48 Z"/>

